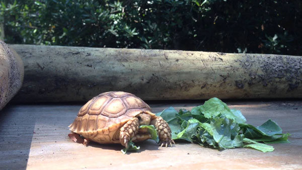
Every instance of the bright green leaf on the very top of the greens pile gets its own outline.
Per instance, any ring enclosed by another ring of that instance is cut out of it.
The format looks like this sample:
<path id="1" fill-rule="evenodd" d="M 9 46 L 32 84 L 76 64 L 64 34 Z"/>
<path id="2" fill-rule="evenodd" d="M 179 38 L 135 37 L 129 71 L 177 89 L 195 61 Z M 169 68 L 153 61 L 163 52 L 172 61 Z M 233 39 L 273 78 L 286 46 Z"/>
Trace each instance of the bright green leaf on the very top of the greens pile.
<path id="1" fill-rule="evenodd" d="M 230 109 L 218 98 L 211 98 L 204 102 L 204 105 L 194 107 L 191 110 L 192 115 L 203 114 L 205 118 L 217 117 L 219 114 L 228 119 L 233 119 L 237 123 L 245 123 L 247 120 L 239 110 Z"/>

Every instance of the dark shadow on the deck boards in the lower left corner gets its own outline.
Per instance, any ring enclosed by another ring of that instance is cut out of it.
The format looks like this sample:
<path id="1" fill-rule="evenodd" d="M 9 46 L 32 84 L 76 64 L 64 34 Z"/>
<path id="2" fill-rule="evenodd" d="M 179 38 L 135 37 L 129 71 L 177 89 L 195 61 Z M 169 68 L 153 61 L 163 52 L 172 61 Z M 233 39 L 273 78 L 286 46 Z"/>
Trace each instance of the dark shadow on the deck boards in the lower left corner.
<path id="1" fill-rule="evenodd" d="M 27 167 L 36 117 L 22 110 L 9 105 L 0 111 L 1 169 Z"/>

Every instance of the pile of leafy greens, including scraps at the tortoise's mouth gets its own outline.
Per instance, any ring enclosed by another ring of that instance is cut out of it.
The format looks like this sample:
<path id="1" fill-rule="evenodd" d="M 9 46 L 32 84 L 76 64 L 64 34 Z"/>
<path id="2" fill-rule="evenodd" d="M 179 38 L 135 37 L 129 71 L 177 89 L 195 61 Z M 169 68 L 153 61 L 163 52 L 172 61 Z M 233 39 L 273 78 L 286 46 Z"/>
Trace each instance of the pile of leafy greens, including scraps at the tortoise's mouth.
<path id="1" fill-rule="evenodd" d="M 157 113 L 169 123 L 174 140 L 186 140 L 202 146 L 217 149 L 235 147 L 249 147 L 262 152 L 271 152 L 270 143 L 289 143 L 289 133 L 282 133 L 282 129 L 272 120 L 261 126 L 246 123 L 246 118 L 239 110 L 230 109 L 218 98 L 212 98 L 204 105 L 192 108 L 191 111 L 181 109 L 177 112 L 173 107 Z M 153 125 L 148 127 L 149 132 L 156 134 Z M 153 139 L 158 137 L 153 135 Z M 262 143 L 259 143 L 262 142 Z M 131 142 L 129 148 L 138 150 Z"/>

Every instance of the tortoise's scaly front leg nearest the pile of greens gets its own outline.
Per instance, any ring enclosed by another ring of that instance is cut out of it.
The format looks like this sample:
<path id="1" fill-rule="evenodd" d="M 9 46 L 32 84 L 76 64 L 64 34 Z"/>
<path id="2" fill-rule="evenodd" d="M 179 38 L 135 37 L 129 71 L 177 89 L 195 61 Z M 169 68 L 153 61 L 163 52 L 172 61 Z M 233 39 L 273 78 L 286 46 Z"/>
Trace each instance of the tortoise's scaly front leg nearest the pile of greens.
<path id="1" fill-rule="evenodd" d="M 172 147 L 172 143 L 175 144 L 174 140 L 171 138 L 171 129 L 169 127 L 169 124 L 162 117 L 158 117 L 152 120 L 150 124 L 154 125 L 156 130 L 158 131 L 160 138 L 159 145 L 161 145 L 161 147 L 163 145 L 166 145 L 167 147 L 168 144 L 170 144 Z"/>

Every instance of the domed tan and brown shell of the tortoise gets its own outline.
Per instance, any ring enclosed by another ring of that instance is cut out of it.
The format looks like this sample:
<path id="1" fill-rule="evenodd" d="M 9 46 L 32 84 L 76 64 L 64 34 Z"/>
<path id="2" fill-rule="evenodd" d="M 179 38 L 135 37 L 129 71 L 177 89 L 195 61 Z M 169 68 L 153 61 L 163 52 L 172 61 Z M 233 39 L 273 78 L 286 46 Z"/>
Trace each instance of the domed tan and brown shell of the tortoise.
<path id="1" fill-rule="evenodd" d="M 70 130 L 98 143 L 120 143 L 120 128 L 140 113 L 151 114 L 150 107 L 133 94 L 102 93 L 88 101 L 69 125 Z M 152 119 L 156 116 L 153 114 Z"/>

